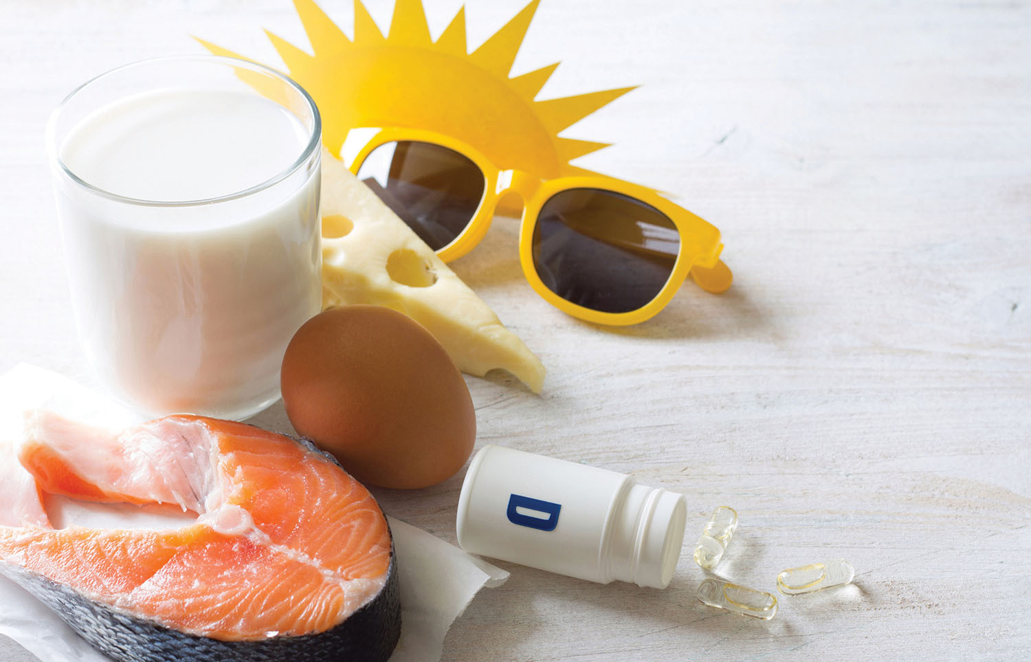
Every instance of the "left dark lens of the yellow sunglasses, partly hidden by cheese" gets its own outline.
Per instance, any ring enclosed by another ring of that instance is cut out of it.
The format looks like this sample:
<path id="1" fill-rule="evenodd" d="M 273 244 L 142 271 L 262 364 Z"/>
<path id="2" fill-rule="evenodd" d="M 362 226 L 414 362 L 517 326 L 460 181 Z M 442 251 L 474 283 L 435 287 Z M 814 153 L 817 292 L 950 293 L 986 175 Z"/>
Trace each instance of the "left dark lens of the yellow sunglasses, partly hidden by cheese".
<path id="1" fill-rule="evenodd" d="M 358 178 L 434 251 L 469 225 L 484 197 L 484 173 L 468 158 L 431 142 L 387 142 L 365 159 Z"/>

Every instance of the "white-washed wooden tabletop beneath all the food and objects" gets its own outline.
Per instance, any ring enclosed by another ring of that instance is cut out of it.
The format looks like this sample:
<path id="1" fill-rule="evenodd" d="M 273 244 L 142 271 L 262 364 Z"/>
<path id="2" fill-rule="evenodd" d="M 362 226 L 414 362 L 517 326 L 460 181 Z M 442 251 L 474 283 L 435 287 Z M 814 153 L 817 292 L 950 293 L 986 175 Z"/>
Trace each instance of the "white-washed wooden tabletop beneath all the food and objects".
<path id="1" fill-rule="evenodd" d="M 368 4 L 386 25 L 392 3 Z M 459 6 L 427 4 L 435 34 Z M 350 2 L 324 5 L 350 25 Z M 521 6 L 469 0 L 472 44 Z M 276 62 L 263 27 L 303 43 L 288 0 L 4 0 L 0 370 L 92 379 L 49 109 L 115 65 L 199 52 L 190 34 Z M 665 591 L 502 563 L 511 580 L 474 600 L 444 659 L 1027 659 L 1031 2 L 544 0 L 516 70 L 555 60 L 545 97 L 643 86 L 566 135 L 617 142 L 583 163 L 718 225 L 735 284 L 689 283 L 652 322 L 606 329 L 531 292 L 514 222 L 454 264 L 550 369 L 541 397 L 467 378 L 477 443 L 680 490 L 690 521 Z M 461 478 L 377 494 L 454 541 Z M 703 606 L 690 548 L 718 504 L 741 517 L 719 574 L 771 590 L 840 556 L 855 585 L 783 597 L 768 623 Z"/>

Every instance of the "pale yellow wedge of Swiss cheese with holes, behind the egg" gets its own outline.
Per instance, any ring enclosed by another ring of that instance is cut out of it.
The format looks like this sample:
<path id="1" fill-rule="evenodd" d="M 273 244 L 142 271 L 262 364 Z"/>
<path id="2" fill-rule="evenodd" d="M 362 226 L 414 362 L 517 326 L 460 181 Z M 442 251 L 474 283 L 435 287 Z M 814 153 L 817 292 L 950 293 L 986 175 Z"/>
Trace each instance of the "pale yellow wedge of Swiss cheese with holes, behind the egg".
<path id="1" fill-rule="evenodd" d="M 326 148 L 322 168 L 323 308 L 393 308 L 426 327 L 463 372 L 502 368 L 540 393 L 544 366 L 523 340 Z"/>

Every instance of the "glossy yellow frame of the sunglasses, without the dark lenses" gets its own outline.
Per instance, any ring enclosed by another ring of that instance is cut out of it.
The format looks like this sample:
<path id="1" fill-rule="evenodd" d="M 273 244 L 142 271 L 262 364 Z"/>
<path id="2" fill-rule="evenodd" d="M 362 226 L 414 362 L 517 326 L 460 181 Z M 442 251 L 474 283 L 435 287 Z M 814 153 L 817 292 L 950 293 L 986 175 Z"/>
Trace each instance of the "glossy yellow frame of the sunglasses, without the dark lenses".
<path id="1" fill-rule="evenodd" d="M 357 130 L 352 129 L 352 131 Z M 638 324 L 655 317 L 662 310 L 679 290 L 689 273 L 699 287 L 713 294 L 726 291 L 731 285 L 733 279 L 731 271 L 720 261 L 720 253 L 723 251 L 720 230 L 684 207 L 660 196 L 653 189 L 601 174 L 564 176 L 543 180 L 521 170 L 503 170 L 491 163 L 474 147 L 433 131 L 400 127 L 368 128 L 361 131 L 363 136 L 369 133 L 371 137 L 353 157 L 347 159 L 350 161 L 347 167 L 355 174 L 358 174 L 365 159 L 373 150 L 388 142 L 401 140 L 430 142 L 454 150 L 476 164 L 484 174 L 486 179 L 484 197 L 480 199 L 472 220 L 451 243 L 437 251 L 437 257 L 444 262 L 457 260 L 479 243 L 491 227 L 498 201 L 509 193 L 519 194 L 523 198 L 519 238 L 519 256 L 523 274 L 530 287 L 541 298 L 567 315 L 596 324 L 613 326 Z M 341 154 L 341 156 L 344 155 Z M 350 155 L 347 156 L 350 157 Z M 533 232 L 537 225 L 537 216 L 540 208 L 552 196 L 569 189 L 602 189 L 620 193 L 652 205 L 673 222 L 680 238 L 676 261 L 662 290 L 645 305 L 628 312 L 594 310 L 563 299 L 548 290 L 547 286 L 540 279 L 533 266 Z"/>

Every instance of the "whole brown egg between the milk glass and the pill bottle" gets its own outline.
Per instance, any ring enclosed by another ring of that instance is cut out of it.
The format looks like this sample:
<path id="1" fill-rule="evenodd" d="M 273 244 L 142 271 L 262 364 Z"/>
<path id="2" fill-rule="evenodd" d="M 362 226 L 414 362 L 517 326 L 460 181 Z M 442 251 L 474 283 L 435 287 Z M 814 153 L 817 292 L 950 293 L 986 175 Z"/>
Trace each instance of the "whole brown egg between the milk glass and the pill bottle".
<path id="1" fill-rule="evenodd" d="M 435 485 L 462 468 L 476 438 L 462 374 L 429 331 L 390 308 L 308 320 L 287 347 L 281 387 L 297 432 L 363 483 Z"/>

